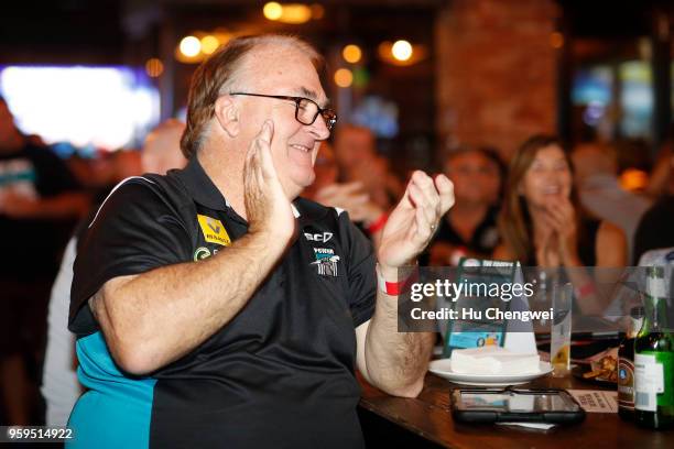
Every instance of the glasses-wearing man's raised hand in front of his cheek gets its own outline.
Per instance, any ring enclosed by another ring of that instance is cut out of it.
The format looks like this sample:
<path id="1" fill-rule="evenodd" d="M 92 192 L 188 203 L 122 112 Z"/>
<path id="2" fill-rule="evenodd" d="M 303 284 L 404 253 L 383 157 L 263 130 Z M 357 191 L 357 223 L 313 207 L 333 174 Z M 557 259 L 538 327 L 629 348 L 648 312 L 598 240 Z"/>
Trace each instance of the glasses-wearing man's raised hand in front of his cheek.
<path id="1" fill-rule="evenodd" d="M 273 236 L 287 242 L 295 232 L 295 218 L 283 191 L 271 155 L 274 124 L 267 120 L 248 149 L 243 166 L 243 201 L 249 232 Z"/>

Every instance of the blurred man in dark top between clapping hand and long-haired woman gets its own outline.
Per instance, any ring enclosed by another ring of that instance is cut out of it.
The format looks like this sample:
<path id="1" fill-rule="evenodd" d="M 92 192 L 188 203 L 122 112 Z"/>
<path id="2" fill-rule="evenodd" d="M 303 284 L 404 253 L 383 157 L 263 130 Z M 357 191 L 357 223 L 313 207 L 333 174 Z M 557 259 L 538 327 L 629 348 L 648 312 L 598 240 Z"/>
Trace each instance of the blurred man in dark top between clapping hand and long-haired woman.
<path id="1" fill-rule="evenodd" d="M 500 241 L 503 162 L 491 149 L 465 147 L 449 153 L 444 171 L 454 183 L 456 202 L 431 241 L 427 263 L 457 265 L 463 256 L 491 258 Z"/>

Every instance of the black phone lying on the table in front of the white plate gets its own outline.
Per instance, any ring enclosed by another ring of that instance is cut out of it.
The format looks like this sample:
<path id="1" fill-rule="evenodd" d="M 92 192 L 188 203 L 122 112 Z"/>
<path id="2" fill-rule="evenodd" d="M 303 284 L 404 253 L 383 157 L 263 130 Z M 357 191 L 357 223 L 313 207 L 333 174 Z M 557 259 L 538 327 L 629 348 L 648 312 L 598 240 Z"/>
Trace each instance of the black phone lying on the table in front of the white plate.
<path id="1" fill-rule="evenodd" d="M 575 424 L 585 419 L 585 410 L 559 388 L 456 388 L 452 416 L 463 423 Z"/>

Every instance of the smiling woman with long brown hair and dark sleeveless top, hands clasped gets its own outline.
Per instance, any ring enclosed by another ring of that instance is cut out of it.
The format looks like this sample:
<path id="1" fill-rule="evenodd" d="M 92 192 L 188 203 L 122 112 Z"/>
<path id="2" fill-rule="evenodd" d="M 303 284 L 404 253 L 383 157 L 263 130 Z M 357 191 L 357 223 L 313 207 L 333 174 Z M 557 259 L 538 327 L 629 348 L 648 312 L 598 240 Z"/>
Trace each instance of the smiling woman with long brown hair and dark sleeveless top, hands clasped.
<path id="1" fill-rule="evenodd" d="M 534 135 L 514 154 L 499 216 L 502 243 L 494 258 L 524 266 L 564 267 L 584 313 L 601 314 L 595 284 L 581 266 L 622 267 L 624 232 L 608 221 L 583 217 L 573 184 L 572 162 L 554 136 Z"/>

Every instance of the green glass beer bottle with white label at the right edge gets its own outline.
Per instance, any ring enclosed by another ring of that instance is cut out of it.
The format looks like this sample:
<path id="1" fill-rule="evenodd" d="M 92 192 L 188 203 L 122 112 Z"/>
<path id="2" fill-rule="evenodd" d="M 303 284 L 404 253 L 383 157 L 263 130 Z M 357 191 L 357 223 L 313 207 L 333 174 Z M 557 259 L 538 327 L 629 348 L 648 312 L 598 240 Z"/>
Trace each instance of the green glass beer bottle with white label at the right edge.
<path id="1" fill-rule="evenodd" d="M 664 269 L 646 269 L 644 322 L 634 340 L 634 420 L 674 427 L 674 332 L 667 325 Z"/>

